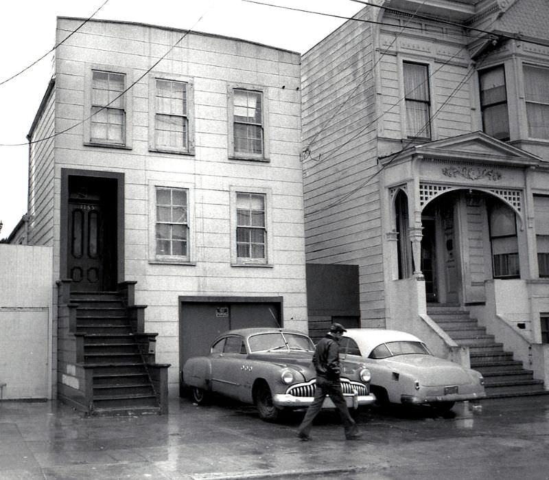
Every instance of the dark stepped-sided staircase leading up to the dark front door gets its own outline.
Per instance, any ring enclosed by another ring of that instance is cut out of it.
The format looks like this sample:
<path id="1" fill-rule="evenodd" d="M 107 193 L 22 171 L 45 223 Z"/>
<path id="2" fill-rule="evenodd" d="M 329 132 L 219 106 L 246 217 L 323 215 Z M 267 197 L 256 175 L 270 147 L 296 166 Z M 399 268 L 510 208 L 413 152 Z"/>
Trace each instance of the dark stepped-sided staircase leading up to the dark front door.
<path id="1" fill-rule="evenodd" d="M 65 336 L 65 343 L 71 336 L 75 342 L 75 358 L 71 359 L 71 349 L 60 356 L 74 361 L 82 387 L 75 392 L 63 385 L 62 400 L 90 415 L 167 412 L 169 365 L 154 361 L 156 334 L 143 332 L 145 306 L 128 305 L 121 292 L 72 291 L 59 308 L 68 310 L 67 329 L 60 336 Z M 82 378 L 78 372 L 83 372 Z"/>

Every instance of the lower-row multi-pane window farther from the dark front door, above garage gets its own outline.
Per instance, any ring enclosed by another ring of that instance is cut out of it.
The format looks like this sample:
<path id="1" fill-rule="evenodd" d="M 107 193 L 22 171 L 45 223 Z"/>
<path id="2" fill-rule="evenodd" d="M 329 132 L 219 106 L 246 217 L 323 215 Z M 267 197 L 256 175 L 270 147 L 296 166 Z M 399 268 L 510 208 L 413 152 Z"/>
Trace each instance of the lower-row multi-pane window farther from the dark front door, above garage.
<path id="1" fill-rule="evenodd" d="M 238 262 L 266 262 L 266 195 L 236 193 L 236 251 Z"/>

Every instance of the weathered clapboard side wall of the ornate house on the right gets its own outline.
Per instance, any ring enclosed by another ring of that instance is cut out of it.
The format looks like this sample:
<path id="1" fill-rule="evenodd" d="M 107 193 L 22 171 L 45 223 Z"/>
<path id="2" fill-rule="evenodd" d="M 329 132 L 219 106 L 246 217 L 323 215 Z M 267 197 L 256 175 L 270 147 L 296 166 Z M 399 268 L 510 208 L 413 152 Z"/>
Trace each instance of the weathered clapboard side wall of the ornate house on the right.
<path id="1" fill-rule="evenodd" d="M 382 318 L 384 302 L 372 35 L 349 21 L 302 65 L 307 262 L 359 266 L 363 319 Z"/>

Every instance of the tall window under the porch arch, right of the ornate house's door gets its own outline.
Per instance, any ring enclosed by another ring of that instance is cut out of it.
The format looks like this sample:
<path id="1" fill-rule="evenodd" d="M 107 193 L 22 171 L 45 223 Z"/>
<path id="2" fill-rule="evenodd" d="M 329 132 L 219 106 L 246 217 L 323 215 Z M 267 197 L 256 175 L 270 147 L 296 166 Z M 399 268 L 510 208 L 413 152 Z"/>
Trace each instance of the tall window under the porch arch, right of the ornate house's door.
<path id="1" fill-rule="evenodd" d="M 515 212 L 502 203 L 494 202 L 489 208 L 489 227 L 493 277 L 519 277 L 519 247 Z"/>

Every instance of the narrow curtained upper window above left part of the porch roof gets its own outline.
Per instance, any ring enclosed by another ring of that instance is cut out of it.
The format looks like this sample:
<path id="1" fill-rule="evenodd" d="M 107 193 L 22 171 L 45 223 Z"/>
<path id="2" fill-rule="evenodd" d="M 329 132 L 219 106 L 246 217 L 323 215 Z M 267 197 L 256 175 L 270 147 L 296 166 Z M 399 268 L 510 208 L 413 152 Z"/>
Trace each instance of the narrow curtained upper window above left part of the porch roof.
<path id="1" fill-rule="evenodd" d="M 429 67 L 412 62 L 403 62 L 402 67 L 406 105 L 406 135 L 408 138 L 430 139 Z"/>

